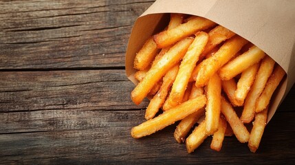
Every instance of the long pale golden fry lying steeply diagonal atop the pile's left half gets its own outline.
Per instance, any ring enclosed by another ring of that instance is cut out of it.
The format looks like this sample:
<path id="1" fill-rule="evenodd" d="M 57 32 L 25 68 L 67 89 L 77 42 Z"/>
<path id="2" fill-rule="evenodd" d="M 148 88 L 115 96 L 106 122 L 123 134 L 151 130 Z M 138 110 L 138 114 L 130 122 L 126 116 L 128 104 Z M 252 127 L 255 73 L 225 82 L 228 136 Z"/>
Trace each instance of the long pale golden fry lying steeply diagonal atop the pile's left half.
<path id="1" fill-rule="evenodd" d="M 193 72 L 193 69 L 199 60 L 199 55 L 203 52 L 206 43 L 208 42 L 208 34 L 206 32 L 197 32 L 195 40 L 188 47 L 188 51 L 182 58 L 182 63 L 179 66 L 179 72 L 172 85 L 171 92 L 164 104 L 164 110 L 171 109 L 182 102 L 184 91 L 188 85 L 188 80 Z"/>

